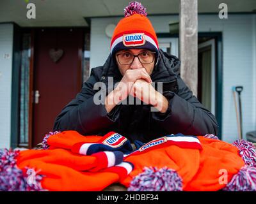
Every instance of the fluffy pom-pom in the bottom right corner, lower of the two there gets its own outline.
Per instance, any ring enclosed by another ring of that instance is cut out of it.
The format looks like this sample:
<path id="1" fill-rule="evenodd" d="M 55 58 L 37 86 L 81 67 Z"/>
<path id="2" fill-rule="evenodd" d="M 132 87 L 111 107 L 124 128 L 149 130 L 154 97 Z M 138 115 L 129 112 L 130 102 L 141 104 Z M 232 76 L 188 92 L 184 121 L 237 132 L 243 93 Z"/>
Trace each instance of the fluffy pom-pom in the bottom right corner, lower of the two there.
<path id="1" fill-rule="evenodd" d="M 243 166 L 223 191 L 256 191 L 256 168 Z"/>

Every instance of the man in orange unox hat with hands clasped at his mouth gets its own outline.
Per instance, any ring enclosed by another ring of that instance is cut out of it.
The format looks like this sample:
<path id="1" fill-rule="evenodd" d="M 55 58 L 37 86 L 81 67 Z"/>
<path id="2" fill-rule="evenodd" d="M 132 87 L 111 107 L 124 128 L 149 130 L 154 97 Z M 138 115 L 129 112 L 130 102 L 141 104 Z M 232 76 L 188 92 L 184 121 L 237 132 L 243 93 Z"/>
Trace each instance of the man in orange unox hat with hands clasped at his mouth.
<path id="1" fill-rule="evenodd" d="M 145 8 L 140 3 L 130 3 L 125 8 L 125 18 L 116 25 L 107 61 L 92 69 L 81 92 L 56 118 L 54 131 L 73 129 L 82 135 L 115 131 L 132 142 L 148 142 L 176 133 L 217 135 L 214 115 L 184 84 L 179 68 L 177 57 L 159 50 Z M 110 78 L 114 89 L 108 83 Z M 93 89 L 97 82 L 106 85 L 106 89 Z M 162 85 L 163 90 L 153 87 L 152 82 Z M 104 91 L 103 103 L 95 103 L 95 96 Z M 142 103 L 131 104 L 136 100 Z"/>

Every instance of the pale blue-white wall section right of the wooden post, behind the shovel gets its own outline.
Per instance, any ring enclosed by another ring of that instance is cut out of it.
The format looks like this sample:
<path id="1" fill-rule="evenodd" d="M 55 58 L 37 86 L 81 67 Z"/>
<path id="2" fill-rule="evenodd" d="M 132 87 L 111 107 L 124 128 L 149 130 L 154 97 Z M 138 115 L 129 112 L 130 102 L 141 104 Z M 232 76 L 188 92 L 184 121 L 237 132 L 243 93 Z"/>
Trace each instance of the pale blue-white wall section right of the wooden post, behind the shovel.
<path id="1" fill-rule="evenodd" d="M 256 129 L 255 106 L 255 43 L 253 45 L 253 15 L 218 16 L 201 15 L 199 31 L 223 32 L 223 140 L 233 142 L 238 138 L 232 86 L 243 85 L 241 93 L 243 136 Z M 255 23 L 254 23 L 255 24 Z M 253 73 L 254 72 L 254 73 Z"/>

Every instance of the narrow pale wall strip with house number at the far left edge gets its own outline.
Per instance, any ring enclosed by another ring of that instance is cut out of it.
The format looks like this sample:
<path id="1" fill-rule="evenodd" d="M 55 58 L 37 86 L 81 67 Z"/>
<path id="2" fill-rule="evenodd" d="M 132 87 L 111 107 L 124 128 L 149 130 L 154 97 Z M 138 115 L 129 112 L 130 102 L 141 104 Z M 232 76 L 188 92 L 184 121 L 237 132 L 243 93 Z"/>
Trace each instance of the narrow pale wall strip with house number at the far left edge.
<path id="1" fill-rule="evenodd" d="M 0 24 L 0 148 L 10 148 L 12 50 L 13 25 Z"/>

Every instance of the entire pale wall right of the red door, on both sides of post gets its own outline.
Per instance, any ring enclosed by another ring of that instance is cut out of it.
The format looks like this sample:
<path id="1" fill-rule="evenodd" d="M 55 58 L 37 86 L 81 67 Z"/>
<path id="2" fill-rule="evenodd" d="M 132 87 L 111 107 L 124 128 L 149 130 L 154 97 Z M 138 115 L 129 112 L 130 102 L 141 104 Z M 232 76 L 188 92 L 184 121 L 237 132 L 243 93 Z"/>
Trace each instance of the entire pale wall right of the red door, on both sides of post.
<path id="1" fill-rule="evenodd" d="M 168 33 L 168 23 L 179 16 L 149 17 L 156 33 Z M 91 68 L 104 64 L 110 50 L 105 34 L 108 24 L 120 18 L 93 18 L 91 24 Z M 198 32 L 223 33 L 223 121 L 222 138 L 234 142 L 238 138 L 232 86 L 243 85 L 243 135 L 256 129 L 256 17 L 255 15 L 199 15 Z"/>

